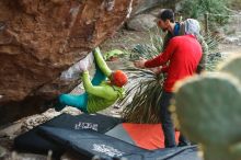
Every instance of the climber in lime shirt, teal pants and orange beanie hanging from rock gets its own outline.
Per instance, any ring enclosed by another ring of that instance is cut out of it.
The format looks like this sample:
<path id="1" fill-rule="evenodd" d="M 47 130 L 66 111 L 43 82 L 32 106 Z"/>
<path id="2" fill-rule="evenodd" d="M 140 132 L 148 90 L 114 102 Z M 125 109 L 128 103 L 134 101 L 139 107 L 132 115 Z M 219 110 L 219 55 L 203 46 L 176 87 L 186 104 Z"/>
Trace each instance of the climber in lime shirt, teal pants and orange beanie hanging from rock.
<path id="1" fill-rule="evenodd" d="M 87 68 L 82 69 L 82 81 L 85 93 L 80 95 L 61 94 L 56 111 L 62 110 L 66 105 L 79 108 L 84 113 L 95 113 L 104 110 L 123 99 L 125 95 L 124 85 L 128 78 L 122 70 L 112 71 L 101 55 L 101 50 L 93 52 L 95 59 L 95 73 L 90 80 Z M 81 66 L 80 66 L 81 68 Z"/>

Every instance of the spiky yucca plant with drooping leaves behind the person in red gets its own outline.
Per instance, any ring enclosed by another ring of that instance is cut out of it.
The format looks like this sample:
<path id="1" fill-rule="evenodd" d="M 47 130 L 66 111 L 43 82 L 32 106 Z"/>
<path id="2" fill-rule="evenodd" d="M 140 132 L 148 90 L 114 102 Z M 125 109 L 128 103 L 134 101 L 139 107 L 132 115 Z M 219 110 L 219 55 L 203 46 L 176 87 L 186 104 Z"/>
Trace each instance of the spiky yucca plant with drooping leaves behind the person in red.
<path id="1" fill-rule="evenodd" d="M 217 62 L 217 45 L 219 38 L 207 34 L 205 41 L 209 47 L 207 55 L 207 69 L 214 70 Z M 162 33 L 159 30 L 150 32 L 150 41 L 145 44 L 138 44 L 130 50 L 130 60 L 139 57 L 150 59 L 162 53 L 163 41 Z M 211 55 L 211 56 L 210 56 Z M 122 100 L 123 117 L 129 123 L 156 124 L 160 123 L 160 98 L 165 76 L 163 73 L 156 75 L 147 69 L 127 68 L 125 71 L 129 75 L 129 84 L 126 98 Z M 131 102 L 129 102 L 131 101 Z"/>

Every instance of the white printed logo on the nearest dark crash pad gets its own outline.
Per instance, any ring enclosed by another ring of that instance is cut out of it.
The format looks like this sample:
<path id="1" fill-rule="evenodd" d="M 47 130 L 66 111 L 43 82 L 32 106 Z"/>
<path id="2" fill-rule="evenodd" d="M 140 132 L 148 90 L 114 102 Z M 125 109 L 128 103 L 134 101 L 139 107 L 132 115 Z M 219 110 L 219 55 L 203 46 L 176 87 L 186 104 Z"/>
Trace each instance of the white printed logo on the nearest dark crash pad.
<path id="1" fill-rule="evenodd" d="M 111 146 L 100 145 L 100 144 L 94 144 L 92 150 L 105 153 L 110 157 L 120 157 L 125 153 L 125 152 L 122 152 L 122 151 L 111 147 Z"/>

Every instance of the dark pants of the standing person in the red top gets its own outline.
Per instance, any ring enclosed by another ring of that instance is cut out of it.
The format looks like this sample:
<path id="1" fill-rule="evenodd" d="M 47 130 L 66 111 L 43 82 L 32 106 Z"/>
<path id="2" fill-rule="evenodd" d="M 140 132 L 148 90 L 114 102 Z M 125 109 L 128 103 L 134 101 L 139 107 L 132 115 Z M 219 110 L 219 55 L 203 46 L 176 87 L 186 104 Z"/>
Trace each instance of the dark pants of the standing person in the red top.
<path id="1" fill-rule="evenodd" d="M 164 133 L 165 148 L 171 148 L 176 146 L 175 130 L 171 119 L 171 113 L 169 111 L 169 106 L 172 98 L 173 98 L 173 93 L 163 91 L 160 100 L 161 103 L 160 118 L 161 118 L 162 129 Z M 186 146 L 190 144 L 188 140 L 183 135 L 180 135 L 179 141 L 180 141 L 179 146 Z"/>

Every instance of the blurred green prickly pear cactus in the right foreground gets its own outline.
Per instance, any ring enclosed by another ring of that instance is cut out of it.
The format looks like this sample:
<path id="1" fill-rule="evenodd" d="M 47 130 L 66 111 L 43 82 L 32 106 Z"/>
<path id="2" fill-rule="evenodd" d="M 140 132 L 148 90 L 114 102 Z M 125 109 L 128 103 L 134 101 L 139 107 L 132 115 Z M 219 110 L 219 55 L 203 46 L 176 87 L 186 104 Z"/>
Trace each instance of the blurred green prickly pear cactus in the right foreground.
<path id="1" fill-rule="evenodd" d="M 241 160 L 241 57 L 177 84 L 175 116 L 205 160 Z M 236 77 L 237 76 L 237 77 Z"/>

